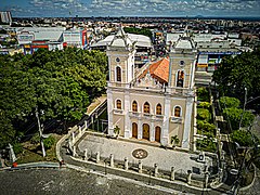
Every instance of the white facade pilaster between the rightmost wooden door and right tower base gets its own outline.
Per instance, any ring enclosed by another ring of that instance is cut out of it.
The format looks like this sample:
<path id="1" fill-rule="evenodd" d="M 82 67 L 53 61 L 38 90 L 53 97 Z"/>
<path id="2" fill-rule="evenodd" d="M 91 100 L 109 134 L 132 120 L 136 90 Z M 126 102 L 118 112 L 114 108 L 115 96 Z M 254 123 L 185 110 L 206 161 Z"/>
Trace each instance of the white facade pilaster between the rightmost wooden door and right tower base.
<path id="1" fill-rule="evenodd" d="M 171 110 L 170 110 L 170 96 L 167 95 L 165 99 L 165 117 L 162 121 L 162 127 L 161 127 L 161 138 L 160 138 L 160 143 L 165 146 L 168 145 L 168 140 L 169 140 L 169 118 L 171 116 Z"/>

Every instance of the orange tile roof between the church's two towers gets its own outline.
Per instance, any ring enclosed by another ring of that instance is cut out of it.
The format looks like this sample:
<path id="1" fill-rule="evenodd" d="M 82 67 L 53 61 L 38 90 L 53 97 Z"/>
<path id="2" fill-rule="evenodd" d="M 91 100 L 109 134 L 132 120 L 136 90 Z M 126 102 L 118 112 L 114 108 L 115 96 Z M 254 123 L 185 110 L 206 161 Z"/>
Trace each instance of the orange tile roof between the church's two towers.
<path id="1" fill-rule="evenodd" d="M 142 79 L 148 73 L 153 78 L 157 79 L 160 83 L 167 83 L 169 79 L 169 65 L 170 62 L 168 58 L 161 58 L 154 64 L 151 64 L 147 69 L 139 77 Z"/>

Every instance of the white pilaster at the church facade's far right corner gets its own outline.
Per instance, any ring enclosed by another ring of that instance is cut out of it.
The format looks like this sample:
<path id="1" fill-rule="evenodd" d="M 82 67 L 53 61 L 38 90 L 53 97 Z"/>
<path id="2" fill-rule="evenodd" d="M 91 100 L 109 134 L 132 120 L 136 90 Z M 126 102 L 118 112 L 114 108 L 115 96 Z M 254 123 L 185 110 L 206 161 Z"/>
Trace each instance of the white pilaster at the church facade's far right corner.
<path id="1" fill-rule="evenodd" d="M 185 112 L 185 121 L 184 121 L 184 132 L 182 139 L 182 147 L 190 150 L 190 136 L 192 130 L 192 117 L 193 117 L 193 96 L 187 98 L 186 100 L 186 112 Z"/>

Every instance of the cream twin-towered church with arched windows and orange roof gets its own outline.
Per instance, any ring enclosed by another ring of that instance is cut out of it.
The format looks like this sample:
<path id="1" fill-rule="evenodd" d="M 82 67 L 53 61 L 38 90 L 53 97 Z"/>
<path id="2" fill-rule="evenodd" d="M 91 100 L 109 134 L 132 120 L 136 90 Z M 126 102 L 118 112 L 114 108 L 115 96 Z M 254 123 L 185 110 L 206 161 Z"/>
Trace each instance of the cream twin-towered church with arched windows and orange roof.
<path id="1" fill-rule="evenodd" d="M 193 150 L 194 73 L 197 50 L 184 32 L 171 47 L 169 58 L 134 68 L 135 42 L 122 28 L 106 49 L 108 134 L 170 145 L 177 135 L 179 147 Z M 118 128 L 117 128 L 118 127 Z"/>

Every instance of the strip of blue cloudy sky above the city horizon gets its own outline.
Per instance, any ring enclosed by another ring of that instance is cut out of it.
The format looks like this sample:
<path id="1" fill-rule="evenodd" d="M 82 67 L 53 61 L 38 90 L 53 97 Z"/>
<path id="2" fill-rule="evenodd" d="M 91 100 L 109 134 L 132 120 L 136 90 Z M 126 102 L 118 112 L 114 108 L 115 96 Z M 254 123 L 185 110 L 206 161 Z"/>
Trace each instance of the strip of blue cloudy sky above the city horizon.
<path id="1" fill-rule="evenodd" d="M 14 17 L 260 16 L 260 0 L 1 0 Z M 69 15 L 70 13 L 70 15 Z"/>

